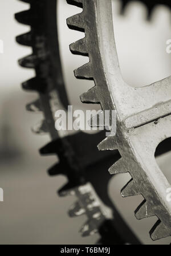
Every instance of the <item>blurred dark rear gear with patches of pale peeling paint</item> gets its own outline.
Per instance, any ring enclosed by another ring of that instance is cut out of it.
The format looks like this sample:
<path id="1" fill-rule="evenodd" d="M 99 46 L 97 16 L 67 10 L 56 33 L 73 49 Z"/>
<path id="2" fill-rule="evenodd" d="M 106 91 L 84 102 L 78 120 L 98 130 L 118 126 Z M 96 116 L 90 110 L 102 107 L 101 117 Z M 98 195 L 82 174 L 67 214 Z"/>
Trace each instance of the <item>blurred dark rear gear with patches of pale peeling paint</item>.
<path id="1" fill-rule="evenodd" d="M 70 216 L 86 214 L 88 224 L 83 226 L 82 234 L 89 235 L 99 230 L 101 242 L 140 243 L 108 197 L 107 187 L 110 176 L 103 172 L 113 161 L 110 155 L 99 153 L 97 141 L 104 137 L 104 132 L 97 135 L 60 135 L 55 129 L 54 114 L 58 109 L 67 109 L 69 105 L 64 89 L 62 68 L 56 27 L 56 0 L 22 0 L 30 3 L 30 10 L 15 15 L 18 22 L 31 26 L 31 31 L 17 36 L 17 42 L 32 47 L 32 55 L 19 60 L 26 68 L 35 68 L 36 77 L 23 83 L 26 90 L 36 91 L 39 99 L 27 105 L 28 111 L 42 111 L 44 120 L 32 131 L 49 132 L 51 143 L 40 149 L 42 155 L 56 153 L 60 162 L 48 171 L 50 175 L 64 174 L 68 183 L 59 190 L 60 196 L 75 194 L 78 201 L 69 210 Z M 86 145 L 84 148 L 82 145 Z M 90 150 L 91 148 L 91 150 Z M 112 157 L 111 157 L 112 156 Z M 114 156 L 119 159 L 120 155 Z M 97 169 L 96 169 L 97 168 Z M 96 179 L 96 170 L 101 175 L 104 187 Z M 90 185 L 91 184 L 91 185 Z M 87 198 L 87 200 L 85 200 Z M 99 200 L 100 198 L 100 200 Z M 91 207 L 91 205 L 93 207 Z M 113 211 L 108 213 L 108 207 Z M 109 240 L 108 238 L 111 237 Z"/>

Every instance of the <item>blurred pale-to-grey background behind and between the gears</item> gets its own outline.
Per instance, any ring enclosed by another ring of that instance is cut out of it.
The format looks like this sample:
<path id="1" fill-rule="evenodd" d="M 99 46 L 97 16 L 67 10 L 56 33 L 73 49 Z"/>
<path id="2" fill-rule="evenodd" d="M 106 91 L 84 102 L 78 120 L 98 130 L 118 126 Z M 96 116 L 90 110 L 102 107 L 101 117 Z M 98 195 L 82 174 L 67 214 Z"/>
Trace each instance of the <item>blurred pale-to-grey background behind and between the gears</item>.
<path id="1" fill-rule="evenodd" d="M 73 70 L 86 63 L 86 57 L 72 55 L 68 45 L 83 37 L 71 31 L 66 18 L 80 9 L 58 1 L 58 28 L 63 72 L 67 92 L 74 108 L 91 106 L 80 103 L 79 95 L 92 87 L 92 82 L 76 80 Z M 31 53 L 29 47 L 15 43 L 15 36 L 29 31 L 28 26 L 14 20 L 14 14 L 29 9 L 17 0 L 1 0 L 0 39 L 4 52 L 0 54 L 0 187 L 4 202 L 0 202 L 1 244 L 91 244 L 98 235 L 82 238 L 80 226 L 86 216 L 69 218 L 67 210 L 74 197 L 60 198 L 56 190 L 66 179 L 49 177 L 46 170 L 56 162 L 56 157 L 40 157 L 38 149 L 50 141 L 48 135 L 31 132 L 41 119 L 39 114 L 26 112 L 25 105 L 36 99 L 34 93 L 22 91 L 20 84 L 34 76 L 34 71 L 18 66 L 17 60 Z M 170 10 L 160 5 L 146 20 L 146 7 L 133 1 L 125 14 L 120 15 L 120 1 L 113 0 L 113 25 L 121 72 L 131 86 L 145 86 L 169 76 L 171 55 L 166 53 L 166 40 L 171 39 Z M 93 40 L 93 39 L 92 39 Z M 171 183 L 170 153 L 158 157 L 158 165 Z M 107 172 L 107 170 L 104 170 Z M 127 174 L 112 178 L 109 194 L 125 220 L 147 244 L 170 242 L 170 238 L 152 242 L 148 231 L 156 218 L 137 221 L 134 210 L 141 196 L 122 198 L 120 189 L 129 180 Z"/>

